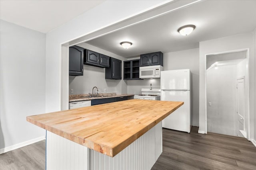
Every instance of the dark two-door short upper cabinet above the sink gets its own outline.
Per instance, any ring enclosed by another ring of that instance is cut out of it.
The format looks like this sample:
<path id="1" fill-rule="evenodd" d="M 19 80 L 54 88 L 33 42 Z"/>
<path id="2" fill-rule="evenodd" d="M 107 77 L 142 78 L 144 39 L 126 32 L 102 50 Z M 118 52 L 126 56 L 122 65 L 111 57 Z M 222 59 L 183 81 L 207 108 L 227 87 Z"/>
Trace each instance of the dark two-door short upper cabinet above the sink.
<path id="1" fill-rule="evenodd" d="M 109 67 L 109 57 L 88 49 L 84 50 L 84 64 L 96 67 Z"/>

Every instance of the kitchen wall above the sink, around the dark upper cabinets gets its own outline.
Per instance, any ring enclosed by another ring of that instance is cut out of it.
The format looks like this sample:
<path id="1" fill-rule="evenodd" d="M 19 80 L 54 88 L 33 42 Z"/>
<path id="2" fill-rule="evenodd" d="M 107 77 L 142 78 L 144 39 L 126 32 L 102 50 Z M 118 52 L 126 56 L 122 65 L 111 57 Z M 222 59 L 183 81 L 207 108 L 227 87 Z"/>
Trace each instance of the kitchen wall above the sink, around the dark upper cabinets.
<path id="1" fill-rule="evenodd" d="M 86 43 L 81 43 L 78 46 L 83 47 L 85 49 L 90 49 L 92 51 L 96 51 L 104 55 L 108 55 L 110 57 L 114 57 L 122 61 L 126 60 L 122 56 L 110 53 L 106 50 L 94 47 Z M 122 66 L 122 70 L 123 68 L 124 67 Z M 94 86 L 97 86 L 99 93 L 103 93 L 104 88 L 106 88 L 107 92 L 116 92 L 116 94 L 122 94 L 122 88 L 127 89 L 126 83 L 122 83 L 122 81 L 124 81 L 123 76 L 122 80 L 105 79 L 105 68 L 84 64 L 84 76 L 69 76 L 69 93 L 70 89 L 74 90 L 74 94 L 92 93 L 92 88 Z M 126 91 L 127 90 L 125 90 L 125 93 Z"/>

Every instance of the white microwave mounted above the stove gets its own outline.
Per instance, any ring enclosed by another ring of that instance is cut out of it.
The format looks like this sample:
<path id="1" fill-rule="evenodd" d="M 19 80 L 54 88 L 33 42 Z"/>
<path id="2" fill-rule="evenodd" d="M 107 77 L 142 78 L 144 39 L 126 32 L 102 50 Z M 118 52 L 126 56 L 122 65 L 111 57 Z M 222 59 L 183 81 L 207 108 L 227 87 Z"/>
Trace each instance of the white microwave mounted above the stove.
<path id="1" fill-rule="evenodd" d="M 162 70 L 161 65 L 140 67 L 140 78 L 160 78 Z"/>

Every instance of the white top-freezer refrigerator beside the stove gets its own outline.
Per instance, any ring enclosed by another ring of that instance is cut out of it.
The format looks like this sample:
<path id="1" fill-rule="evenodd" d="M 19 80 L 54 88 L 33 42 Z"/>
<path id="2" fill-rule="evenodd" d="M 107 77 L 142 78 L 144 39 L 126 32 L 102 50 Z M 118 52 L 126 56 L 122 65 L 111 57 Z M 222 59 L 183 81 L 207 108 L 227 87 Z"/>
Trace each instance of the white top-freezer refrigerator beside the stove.
<path id="1" fill-rule="evenodd" d="M 190 133 L 192 76 L 189 69 L 161 71 L 161 100 L 184 102 L 162 121 L 162 127 Z"/>

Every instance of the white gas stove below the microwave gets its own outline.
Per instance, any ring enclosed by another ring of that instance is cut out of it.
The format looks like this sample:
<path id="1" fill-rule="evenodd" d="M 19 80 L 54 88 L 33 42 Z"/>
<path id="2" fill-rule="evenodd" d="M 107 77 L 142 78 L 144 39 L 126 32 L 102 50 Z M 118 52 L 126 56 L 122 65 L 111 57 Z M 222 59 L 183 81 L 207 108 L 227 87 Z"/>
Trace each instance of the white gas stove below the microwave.
<path id="1" fill-rule="evenodd" d="M 141 94 L 135 95 L 134 99 L 160 100 L 160 88 L 142 88 Z"/>

